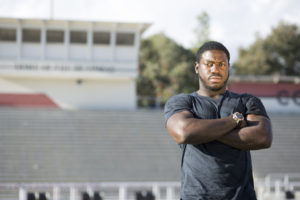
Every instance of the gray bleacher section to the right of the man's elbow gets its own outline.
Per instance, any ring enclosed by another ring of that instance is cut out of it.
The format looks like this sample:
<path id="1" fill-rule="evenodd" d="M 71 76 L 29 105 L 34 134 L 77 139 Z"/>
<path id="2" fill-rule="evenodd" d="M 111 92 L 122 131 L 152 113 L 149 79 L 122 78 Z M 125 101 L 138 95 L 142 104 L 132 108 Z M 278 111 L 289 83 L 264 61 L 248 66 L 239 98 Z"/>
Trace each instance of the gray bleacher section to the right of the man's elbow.
<path id="1" fill-rule="evenodd" d="M 300 172 L 300 113 L 270 113 L 273 127 L 271 148 L 252 151 L 257 177 L 269 173 Z"/>

